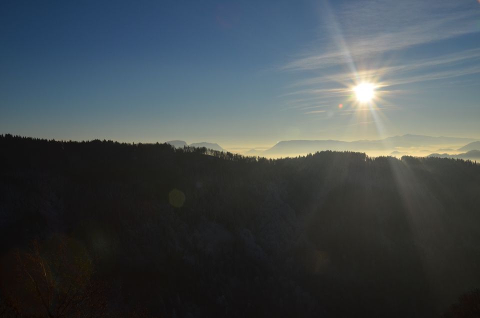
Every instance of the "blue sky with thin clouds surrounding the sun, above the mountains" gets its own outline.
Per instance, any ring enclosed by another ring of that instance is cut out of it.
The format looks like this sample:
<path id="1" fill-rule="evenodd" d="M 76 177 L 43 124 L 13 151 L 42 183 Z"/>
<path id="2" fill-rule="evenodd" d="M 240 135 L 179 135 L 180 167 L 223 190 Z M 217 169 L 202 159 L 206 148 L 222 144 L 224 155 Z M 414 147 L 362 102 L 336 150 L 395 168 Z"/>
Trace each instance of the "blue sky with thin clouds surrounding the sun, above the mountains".
<path id="1" fill-rule="evenodd" d="M 0 133 L 480 138 L 479 97 L 477 0 L 0 2 Z"/>

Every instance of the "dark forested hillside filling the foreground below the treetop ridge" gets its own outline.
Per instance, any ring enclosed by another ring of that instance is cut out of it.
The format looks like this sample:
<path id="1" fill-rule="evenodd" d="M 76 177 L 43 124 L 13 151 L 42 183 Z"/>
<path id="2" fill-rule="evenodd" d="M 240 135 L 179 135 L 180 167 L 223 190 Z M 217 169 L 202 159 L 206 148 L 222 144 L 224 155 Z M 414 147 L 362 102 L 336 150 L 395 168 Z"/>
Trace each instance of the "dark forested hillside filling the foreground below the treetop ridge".
<path id="1" fill-rule="evenodd" d="M 480 286 L 477 164 L 205 153 L 0 136 L 0 313 L 433 317 Z"/>

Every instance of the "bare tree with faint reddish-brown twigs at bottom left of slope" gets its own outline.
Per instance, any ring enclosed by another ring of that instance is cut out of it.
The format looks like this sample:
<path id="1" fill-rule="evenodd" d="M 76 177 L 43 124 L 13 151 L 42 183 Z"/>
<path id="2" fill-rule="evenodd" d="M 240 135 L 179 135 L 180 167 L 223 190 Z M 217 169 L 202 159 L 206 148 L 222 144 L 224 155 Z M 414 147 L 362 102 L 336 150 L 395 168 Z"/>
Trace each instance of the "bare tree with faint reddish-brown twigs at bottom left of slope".
<path id="1" fill-rule="evenodd" d="M 20 316 L 100 317 L 105 314 L 104 286 L 93 276 L 84 248 L 55 237 L 28 252 L 16 251 L 3 267 L 4 307 Z M 13 265 L 13 267 L 11 267 Z M 5 309 L 5 313 L 8 310 Z"/>

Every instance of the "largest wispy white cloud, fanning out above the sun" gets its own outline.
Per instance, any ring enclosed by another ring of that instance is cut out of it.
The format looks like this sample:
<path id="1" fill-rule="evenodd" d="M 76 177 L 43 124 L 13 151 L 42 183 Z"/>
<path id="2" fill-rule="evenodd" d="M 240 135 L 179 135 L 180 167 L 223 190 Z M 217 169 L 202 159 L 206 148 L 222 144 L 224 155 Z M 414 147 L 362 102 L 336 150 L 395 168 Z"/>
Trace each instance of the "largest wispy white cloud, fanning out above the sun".
<path id="1" fill-rule="evenodd" d="M 316 45 L 328 48 L 306 53 L 283 69 L 311 70 L 347 64 L 386 51 L 476 32 L 474 21 L 480 17 L 478 4 L 468 0 L 350 1 L 335 11 L 327 1 L 324 3 L 322 17 L 330 36 Z"/>

